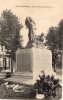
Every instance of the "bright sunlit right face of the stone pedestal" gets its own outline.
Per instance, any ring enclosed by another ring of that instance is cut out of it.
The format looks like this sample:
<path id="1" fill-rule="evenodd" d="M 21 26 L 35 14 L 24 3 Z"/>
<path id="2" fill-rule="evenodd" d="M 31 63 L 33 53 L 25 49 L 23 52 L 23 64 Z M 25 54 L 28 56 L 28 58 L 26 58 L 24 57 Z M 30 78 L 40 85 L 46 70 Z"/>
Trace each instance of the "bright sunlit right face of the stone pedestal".
<path id="1" fill-rule="evenodd" d="M 52 53 L 47 49 L 33 48 L 33 81 L 38 79 L 41 71 L 47 74 L 53 73 L 52 70 Z"/>

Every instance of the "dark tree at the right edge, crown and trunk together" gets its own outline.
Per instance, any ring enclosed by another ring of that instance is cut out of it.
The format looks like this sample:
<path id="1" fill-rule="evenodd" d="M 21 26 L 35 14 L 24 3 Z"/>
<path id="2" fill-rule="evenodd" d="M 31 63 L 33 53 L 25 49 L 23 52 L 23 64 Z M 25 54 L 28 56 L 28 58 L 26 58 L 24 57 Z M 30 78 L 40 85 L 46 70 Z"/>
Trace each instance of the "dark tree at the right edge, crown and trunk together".
<path id="1" fill-rule="evenodd" d="M 62 51 L 62 36 L 63 36 L 63 20 L 61 20 L 57 27 L 50 27 L 46 35 L 46 44 L 52 51 L 52 61 L 54 68 L 58 62 L 58 54 Z M 62 55 L 62 53 L 61 53 Z M 60 61 L 62 62 L 62 61 Z"/>

